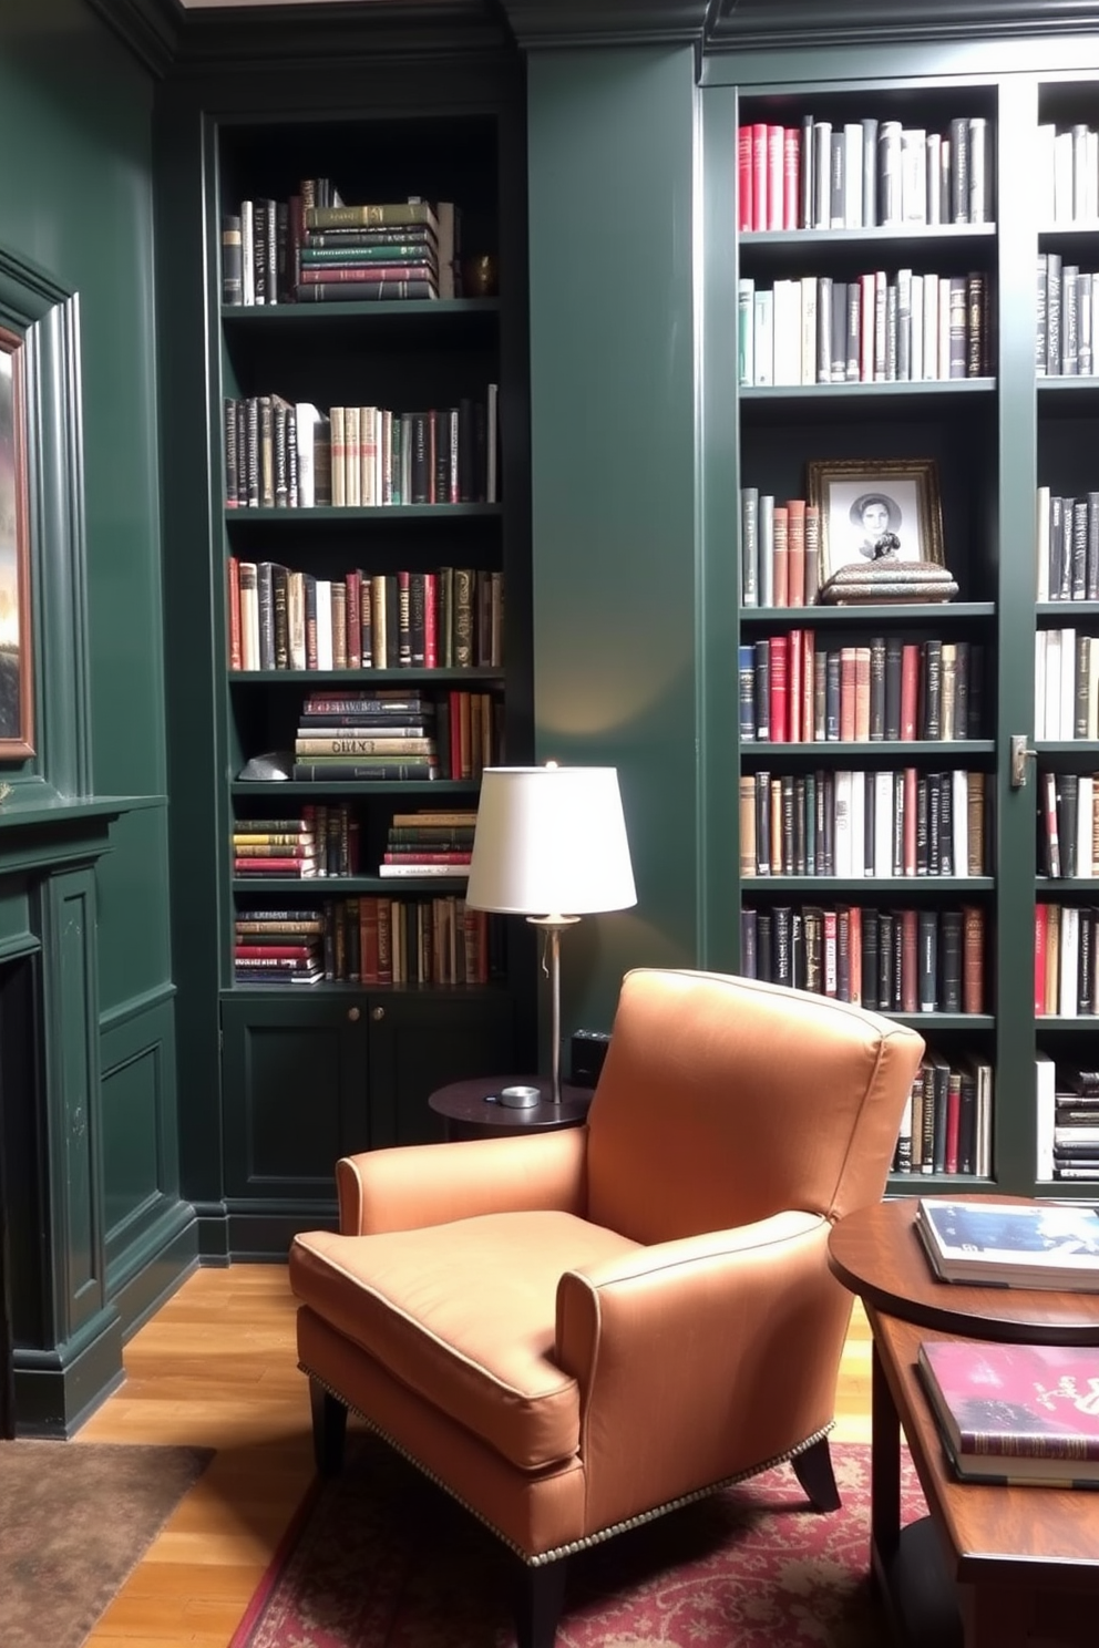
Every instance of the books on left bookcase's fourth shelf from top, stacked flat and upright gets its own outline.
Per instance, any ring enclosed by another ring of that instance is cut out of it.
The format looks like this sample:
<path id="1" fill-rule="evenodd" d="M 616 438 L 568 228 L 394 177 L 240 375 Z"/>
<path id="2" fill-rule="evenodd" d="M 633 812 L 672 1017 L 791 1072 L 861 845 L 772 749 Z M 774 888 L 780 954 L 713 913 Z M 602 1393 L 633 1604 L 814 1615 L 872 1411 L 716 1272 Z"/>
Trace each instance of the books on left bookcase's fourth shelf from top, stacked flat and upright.
<path id="1" fill-rule="evenodd" d="M 476 780 L 499 763 L 503 740 L 503 702 L 493 692 L 453 687 L 437 700 L 420 694 L 306 699 L 290 776 L 306 783 Z"/>

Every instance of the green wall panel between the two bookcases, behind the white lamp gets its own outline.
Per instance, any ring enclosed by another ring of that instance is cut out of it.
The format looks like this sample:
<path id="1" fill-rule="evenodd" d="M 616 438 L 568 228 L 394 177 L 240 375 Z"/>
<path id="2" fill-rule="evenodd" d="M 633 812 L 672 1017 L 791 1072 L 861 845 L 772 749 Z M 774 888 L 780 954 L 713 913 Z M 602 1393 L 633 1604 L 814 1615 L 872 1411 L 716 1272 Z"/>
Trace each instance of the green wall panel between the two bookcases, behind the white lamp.
<path id="1" fill-rule="evenodd" d="M 567 1040 L 697 961 L 694 53 L 540 51 L 527 94 L 537 758 L 618 768 L 638 883 L 562 941 Z"/>

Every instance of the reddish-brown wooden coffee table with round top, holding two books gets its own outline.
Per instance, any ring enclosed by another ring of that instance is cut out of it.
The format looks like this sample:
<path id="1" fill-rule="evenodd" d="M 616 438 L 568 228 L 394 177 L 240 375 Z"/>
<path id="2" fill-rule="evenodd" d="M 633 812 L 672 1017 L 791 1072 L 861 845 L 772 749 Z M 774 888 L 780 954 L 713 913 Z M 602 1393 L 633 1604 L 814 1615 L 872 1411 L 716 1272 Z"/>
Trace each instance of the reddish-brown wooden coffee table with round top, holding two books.
<path id="1" fill-rule="evenodd" d="M 830 1269 L 873 1333 L 870 1557 L 895 1635 L 929 1648 L 1094 1648 L 1099 1493 L 959 1482 L 916 1351 L 929 1338 L 1099 1345 L 1099 1294 L 939 1282 L 914 1215 L 914 1196 L 885 1201 L 840 1220 L 829 1241 Z M 931 1513 L 905 1529 L 901 1430 Z"/>

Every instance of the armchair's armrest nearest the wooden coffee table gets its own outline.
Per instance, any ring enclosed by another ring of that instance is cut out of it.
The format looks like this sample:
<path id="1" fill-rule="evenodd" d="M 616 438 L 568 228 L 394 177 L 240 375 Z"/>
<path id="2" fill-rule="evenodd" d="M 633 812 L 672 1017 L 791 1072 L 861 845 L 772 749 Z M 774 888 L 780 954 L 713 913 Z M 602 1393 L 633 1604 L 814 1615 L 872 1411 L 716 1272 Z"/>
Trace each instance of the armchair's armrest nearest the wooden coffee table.
<path id="1" fill-rule="evenodd" d="M 580 1384 L 593 1526 L 830 1422 L 850 1297 L 827 1272 L 829 1229 L 784 1211 L 562 1276 L 555 1360 Z"/>

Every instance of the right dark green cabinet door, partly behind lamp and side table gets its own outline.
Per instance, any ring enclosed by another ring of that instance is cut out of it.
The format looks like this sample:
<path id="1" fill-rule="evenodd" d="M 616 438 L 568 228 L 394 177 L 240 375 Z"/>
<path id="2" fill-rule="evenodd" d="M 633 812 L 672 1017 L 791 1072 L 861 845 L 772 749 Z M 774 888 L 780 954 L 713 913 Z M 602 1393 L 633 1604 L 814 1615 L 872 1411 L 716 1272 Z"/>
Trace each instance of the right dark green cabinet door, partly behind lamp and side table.
<path id="1" fill-rule="evenodd" d="M 514 1004 L 503 990 L 372 995 L 371 1145 L 437 1140 L 435 1088 L 509 1071 L 514 1056 Z"/>

